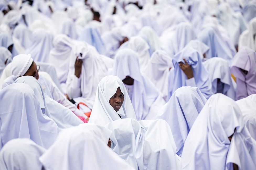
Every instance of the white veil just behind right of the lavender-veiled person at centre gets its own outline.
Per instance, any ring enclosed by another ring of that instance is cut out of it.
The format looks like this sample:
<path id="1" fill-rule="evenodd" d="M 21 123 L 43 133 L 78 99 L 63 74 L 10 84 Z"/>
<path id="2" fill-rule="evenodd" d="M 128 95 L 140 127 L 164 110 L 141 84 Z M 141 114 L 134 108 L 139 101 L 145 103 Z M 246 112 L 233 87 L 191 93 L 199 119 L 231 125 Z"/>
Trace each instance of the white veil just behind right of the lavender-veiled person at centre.
<path id="1" fill-rule="evenodd" d="M 143 38 L 135 36 L 129 39 L 127 47 L 137 52 L 141 70 L 144 70 L 150 59 L 150 47 L 147 42 Z"/>

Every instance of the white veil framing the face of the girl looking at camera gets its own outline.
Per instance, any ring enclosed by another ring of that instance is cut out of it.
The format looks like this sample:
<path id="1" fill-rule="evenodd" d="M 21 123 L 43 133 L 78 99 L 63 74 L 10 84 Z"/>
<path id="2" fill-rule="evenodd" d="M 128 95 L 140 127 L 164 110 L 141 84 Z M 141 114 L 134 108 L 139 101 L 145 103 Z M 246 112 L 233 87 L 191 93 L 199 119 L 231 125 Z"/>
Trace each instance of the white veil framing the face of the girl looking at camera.
<path id="1" fill-rule="evenodd" d="M 124 94 L 124 103 L 120 110 L 116 112 L 109 104 L 109 99 L 116 93 L 118 87 L 120 87 L 121 92 Z M 135 112 L 124 83 L 117 76 L 106 76 L 99 82 L 89 122 L 105 125 L 119 120 L 118 114 L 121 118 L 136 120 Z"/>

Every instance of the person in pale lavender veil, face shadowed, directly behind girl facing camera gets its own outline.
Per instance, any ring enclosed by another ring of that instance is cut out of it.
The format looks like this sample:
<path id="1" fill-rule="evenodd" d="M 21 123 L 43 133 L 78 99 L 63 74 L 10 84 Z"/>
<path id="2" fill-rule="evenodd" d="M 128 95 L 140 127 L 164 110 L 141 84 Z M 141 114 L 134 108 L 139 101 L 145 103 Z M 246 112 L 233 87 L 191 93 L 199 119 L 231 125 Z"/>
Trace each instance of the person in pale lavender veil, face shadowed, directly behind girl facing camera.
<path id="1" fill-rule="evenodd" d="M 115 56 L 112 75 L 125 84 L 137 120 L 153 119 L 166 102 L 156 86 L 140 72 L 137 53 L 121 49 Z"/>

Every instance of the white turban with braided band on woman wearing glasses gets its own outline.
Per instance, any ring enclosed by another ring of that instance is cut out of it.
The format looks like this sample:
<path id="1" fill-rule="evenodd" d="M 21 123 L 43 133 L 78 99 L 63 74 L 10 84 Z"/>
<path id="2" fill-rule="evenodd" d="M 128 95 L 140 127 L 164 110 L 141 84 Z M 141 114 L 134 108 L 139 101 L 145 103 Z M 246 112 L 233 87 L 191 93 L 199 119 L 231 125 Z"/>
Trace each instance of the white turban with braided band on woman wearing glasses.
<path id="1" fill-rule="evenodd" d="M 11 72 L 16 78 L 23 76 L 33 63 L 33 59 L 30 54 L 19 54 L 15 56 L 11 63 Z"/>

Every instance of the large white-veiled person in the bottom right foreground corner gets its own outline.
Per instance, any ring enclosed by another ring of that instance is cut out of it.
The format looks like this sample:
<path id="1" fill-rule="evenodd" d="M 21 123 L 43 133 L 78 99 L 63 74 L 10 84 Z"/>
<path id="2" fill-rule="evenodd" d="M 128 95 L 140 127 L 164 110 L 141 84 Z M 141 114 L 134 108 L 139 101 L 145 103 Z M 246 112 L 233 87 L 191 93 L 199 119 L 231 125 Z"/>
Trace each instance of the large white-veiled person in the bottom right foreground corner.
<path id="1" fill-rule="evenodd" d="M 182 169 L 255 169 L 256 141 L 231 98 L 214 94 L 196 118 L 182 152 Z"/>

